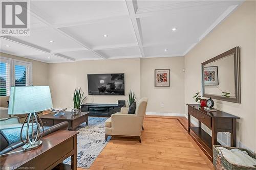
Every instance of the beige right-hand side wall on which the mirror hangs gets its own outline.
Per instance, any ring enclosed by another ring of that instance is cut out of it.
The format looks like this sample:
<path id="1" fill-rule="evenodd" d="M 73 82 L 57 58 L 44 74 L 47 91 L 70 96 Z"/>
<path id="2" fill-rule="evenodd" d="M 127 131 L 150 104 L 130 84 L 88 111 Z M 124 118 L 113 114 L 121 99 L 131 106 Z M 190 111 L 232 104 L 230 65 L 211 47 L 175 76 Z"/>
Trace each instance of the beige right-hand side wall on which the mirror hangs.
<path id="1" fill-rule="evenodd" d="M 256 151 L 256 2 L 246 1 L 185 55 L 185 103 L 201 90 L 201 63 L 240 46 L 241 104 L 215 100 L 215 108 L 239 116 L 238 140 Z M 187 107 L 184 105 L 186 113 Z"/>

